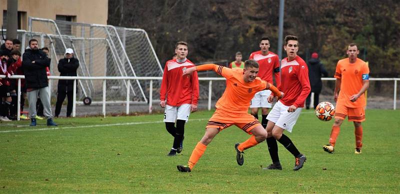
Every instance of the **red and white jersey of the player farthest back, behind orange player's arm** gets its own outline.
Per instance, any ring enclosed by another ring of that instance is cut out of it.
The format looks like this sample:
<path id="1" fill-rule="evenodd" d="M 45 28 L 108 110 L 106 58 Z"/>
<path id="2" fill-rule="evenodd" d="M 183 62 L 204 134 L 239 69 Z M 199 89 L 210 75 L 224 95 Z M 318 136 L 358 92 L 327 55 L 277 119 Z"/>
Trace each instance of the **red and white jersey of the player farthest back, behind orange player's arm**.
<path id="1" fill-rule="evenodd" d="M 277 54 L 268 51 L 267 55 L 262 55 L 261 51 L 252 52 L 248 59 L 254 59 L 259 65 L 257 77 L 268 83 L 273 83 L 272 74 L 275 76 L 276 85 L 280 84 L 279 77 L 279 57 Z"/>

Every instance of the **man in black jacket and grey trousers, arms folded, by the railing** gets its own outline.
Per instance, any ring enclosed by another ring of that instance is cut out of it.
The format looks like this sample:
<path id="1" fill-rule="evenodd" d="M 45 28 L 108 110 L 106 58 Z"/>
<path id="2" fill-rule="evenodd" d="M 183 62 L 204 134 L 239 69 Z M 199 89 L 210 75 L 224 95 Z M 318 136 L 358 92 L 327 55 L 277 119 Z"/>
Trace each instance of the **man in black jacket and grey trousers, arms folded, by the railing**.
<path id="1" fill-rule="evenodd" d="M 57 126 L 52 120 L 50 106 L 50 91 L 46 67 L 50 66 L 50 59 L 38 48 L 37 40 L 29 40 L 29 48 L 22 55 L 22 68 L 25 75 L 25 87 L 29 102 L 30 126 L 36 126 L 36 101 L 40 93 L 43 103 L 44 116 L 47 118 L 47 126 Z"/>

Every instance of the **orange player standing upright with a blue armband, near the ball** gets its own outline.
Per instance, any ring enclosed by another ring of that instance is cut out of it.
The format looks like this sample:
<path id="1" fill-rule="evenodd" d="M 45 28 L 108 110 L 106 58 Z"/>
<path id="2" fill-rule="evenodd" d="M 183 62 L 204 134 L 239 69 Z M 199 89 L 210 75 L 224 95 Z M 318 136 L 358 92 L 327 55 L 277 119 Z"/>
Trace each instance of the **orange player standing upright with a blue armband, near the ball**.
<path id="1" fill-rule="evenodd" d="M 362 147 L 362 126 L 365 121 L 365 95 L 364 92 L 369 87 L 369 68 L 364 61 L 357 58 L 359 50 L 355 43 L 350 43 L 346 54 L 348 58 L 337 62 L 334 77 L 336 86 L 334 88 L 334 101 L 336 109 L 334 123 L 330 133 L 329 144 L 323 146 L 323 150 L 328 153 L 334 152 L 336 138 L 340 132 L 340 125 L 348 117 L 348 121 L 354 123 L 355 152 L 361 154 Z"/>

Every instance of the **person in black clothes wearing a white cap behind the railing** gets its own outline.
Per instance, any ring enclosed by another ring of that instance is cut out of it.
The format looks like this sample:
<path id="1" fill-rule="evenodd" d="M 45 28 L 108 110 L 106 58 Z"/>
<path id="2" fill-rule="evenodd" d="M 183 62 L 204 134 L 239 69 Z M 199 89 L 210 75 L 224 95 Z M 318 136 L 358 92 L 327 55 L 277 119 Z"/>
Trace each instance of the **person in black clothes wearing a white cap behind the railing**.
<path id="1" fill-rule="evenodd" d="M 73 57 L 73 50 L 67 48 L 64 58 L 58 61 L 58 71 L 60 76 L 77 76 L 76 69 L 79 67 L 79 60 Z M 72 113 L 73 98 L 73 80 L 58 80 L 57 86 L 57 102 L 55 103 L 55 117 L 58 117 L 65 96 L 68 98 L 66 105 L 66 117 L 70 117 Z"/>

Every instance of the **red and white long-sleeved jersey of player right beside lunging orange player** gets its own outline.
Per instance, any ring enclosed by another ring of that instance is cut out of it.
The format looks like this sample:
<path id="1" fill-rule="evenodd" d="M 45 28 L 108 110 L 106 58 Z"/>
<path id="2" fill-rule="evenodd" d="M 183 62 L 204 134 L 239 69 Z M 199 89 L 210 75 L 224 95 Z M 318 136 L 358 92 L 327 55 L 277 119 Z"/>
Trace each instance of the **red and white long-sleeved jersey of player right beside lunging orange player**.
<path id="1" fill-rule="evenodd" d="M 304 107 L 304 101 L 311 91 L 307 64 L 299 56 L 291 61 L 287 61 L 286 57 L 280 63 L 280 75 L 282 82 L 277 88 L 284 95 L 279 101 L 285 106 Z"/>

